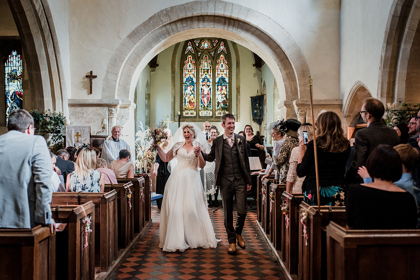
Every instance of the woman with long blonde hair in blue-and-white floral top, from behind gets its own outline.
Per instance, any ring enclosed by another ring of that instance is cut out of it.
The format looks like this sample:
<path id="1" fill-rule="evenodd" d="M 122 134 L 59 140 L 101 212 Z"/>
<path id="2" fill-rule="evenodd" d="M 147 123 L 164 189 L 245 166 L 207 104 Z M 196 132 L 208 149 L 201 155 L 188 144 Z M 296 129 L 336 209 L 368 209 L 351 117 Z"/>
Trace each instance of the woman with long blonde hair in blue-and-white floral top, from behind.
<path id="1" fill-rule="evenodd" d="M 67 192 L 103 192 L 105 177 L 96 168 L 96 153 L 82 148 L 76 158 L 74 171 L 67 175 Z"/>

